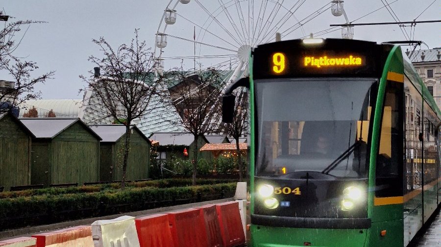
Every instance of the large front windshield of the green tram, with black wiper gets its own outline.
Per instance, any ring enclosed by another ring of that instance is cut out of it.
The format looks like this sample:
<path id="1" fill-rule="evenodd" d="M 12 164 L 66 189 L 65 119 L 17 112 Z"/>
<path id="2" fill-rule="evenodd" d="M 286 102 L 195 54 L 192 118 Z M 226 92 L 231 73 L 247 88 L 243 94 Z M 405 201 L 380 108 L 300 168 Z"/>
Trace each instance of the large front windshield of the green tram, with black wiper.
<path id="1" fill-rule="evenodd" d="M 256 80 L 256 176 L 366 178 L 375 79 Z"/>

